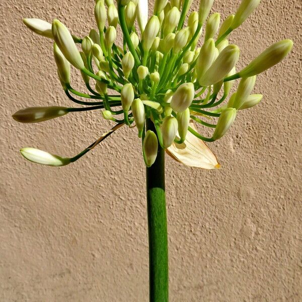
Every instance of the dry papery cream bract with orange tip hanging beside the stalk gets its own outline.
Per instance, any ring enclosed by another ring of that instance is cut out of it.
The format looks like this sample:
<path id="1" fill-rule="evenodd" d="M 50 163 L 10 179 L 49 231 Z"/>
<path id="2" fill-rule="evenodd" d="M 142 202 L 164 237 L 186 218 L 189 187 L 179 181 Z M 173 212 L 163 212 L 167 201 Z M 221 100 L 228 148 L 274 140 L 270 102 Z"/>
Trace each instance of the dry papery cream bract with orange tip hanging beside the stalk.
<path id="1" fill-rule="evenodd" d="M 194 122 L 190 121 L 190 127 L 196 130 Z M 183 143 L 173 144 L 166 149 L 166 152 L 177 162 L 189 167 L 201 169 L 218 169 L 220 168 L 216 156 L 211 152 L 210 148 L 188 131 L 186 139 Z"/>

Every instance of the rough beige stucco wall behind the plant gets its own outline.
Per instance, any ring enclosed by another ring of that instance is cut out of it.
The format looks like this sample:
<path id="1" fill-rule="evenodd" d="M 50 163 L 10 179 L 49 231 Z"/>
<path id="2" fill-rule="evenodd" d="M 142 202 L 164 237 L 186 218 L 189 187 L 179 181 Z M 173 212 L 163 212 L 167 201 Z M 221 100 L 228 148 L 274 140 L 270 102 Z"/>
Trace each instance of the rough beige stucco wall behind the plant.
<path id="1" fill-rule="evenodd" d="M 110 123 L 99 112 L 18 124 L 27 106 L 63 105 L 52 43 L 22 17 L 58 17 L 83 36 L 90 0 L 2 1 L 0 301 L 148 301 L 144 165 L 136 130 L 122 128 L 79 162 L 25 161 L 34 146 L 71 156 Z M 216 0 L 224 19 L 238 0 Z M 196 4 L 197 6 L 197 4 Z M 301 301 L 301 3 L 263 0 L 230 40 L 240 65 L 283 39 L 295 46 L 258 77 L 263 102 L 210 146 L 222 169 L 167 158 L 171 301 Z M 76 86 L 76 85 L 75 85 Z"/>

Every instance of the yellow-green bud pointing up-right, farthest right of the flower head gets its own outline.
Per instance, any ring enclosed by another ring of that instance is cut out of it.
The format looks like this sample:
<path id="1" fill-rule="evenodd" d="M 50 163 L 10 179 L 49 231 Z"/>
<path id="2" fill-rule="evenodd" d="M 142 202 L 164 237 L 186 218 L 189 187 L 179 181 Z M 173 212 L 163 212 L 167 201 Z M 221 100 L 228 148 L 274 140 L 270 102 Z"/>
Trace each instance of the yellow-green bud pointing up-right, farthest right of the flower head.
<path id="1" fill-rule="evenodd" d="M 252 77 L 278 64 L 290 52 L 292 46 L 291 40 L 283 40 L 271 45 L 239 72 L 240 77 Z"/>

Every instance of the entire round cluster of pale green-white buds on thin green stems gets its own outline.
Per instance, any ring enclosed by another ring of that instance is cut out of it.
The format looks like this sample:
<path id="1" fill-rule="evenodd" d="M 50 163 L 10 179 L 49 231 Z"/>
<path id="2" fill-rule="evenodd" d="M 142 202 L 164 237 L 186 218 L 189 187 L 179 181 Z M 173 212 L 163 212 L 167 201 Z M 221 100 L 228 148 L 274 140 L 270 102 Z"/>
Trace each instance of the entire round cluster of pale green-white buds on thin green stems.
<path id="1" fill-rule="evenodd" d="M 146 0 L 118 0 L 117 4 L 113 0 L 97 0 L 97 30 L 92 29 L 84 38 L 71 35 L 59 20 L 50 24 L 24 19 L 32 31 L 53 40 L 62 88 L 72 102 L 86 107 L 31 107 L 15 113 L 14 119 L 41 122 L 69 112 L 101 109 L 103 117 L 116 125 L 73 158 L 34 148 L 21 149 L 22 155 L 40 164 L 67 165 L 121 125 L 135 124 L 142 139 L 144 162 L 149 167 L 155 162 L 159 147 L 181 161 L 178 150 L 188 148 L 196 138 L 214 141 L 222 137 L 234 123 L 238 110 L 261 101 L 262 95 L 251 94 L 257 74 L 280 62 L 293 43 L 283 40 L 271 45 L 237 72 L 240 50 L 229 44 L 228 37 L 252 14 L 260 0 L 242 0 L 235 15 L 226 17 L 221 24 L 219 13 L 209 15 L 213 0 L 200 0 L 199 11 L 190 13 L 186 21 L 191 2 L 155 0 L 153 16 L 148 18 Z M 116 41 L 117 30 L 122 33 L 122 45 Z M 87 93 L 71 87 L 70 65 L 80 70 Z M 230 95 L 236 79 L 241 79 L 237 92 Z M 212 136 L 199 134 L 193 121 L 213 128 Z M 207 153 L 202 156 L 208 161 L 201 166 L 217 167 L 215 160 L 209 160 L 208 150 L 202 148 Z"/>

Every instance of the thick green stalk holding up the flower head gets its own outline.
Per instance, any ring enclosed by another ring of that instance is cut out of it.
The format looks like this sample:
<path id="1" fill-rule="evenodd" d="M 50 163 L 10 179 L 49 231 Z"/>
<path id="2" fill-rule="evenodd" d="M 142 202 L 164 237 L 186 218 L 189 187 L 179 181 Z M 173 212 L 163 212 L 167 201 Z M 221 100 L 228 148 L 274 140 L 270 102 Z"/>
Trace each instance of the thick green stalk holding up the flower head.
<path id="1" fill-rule="evenodd" d="M 147 130 L 156 133 L 151 120 Z M 165 150 L 159 145 L 155 163 L 146 168 L 147 214 L 149 234 L 150 302 L 168 302 L 168 234 L 165 197 Z"/>

